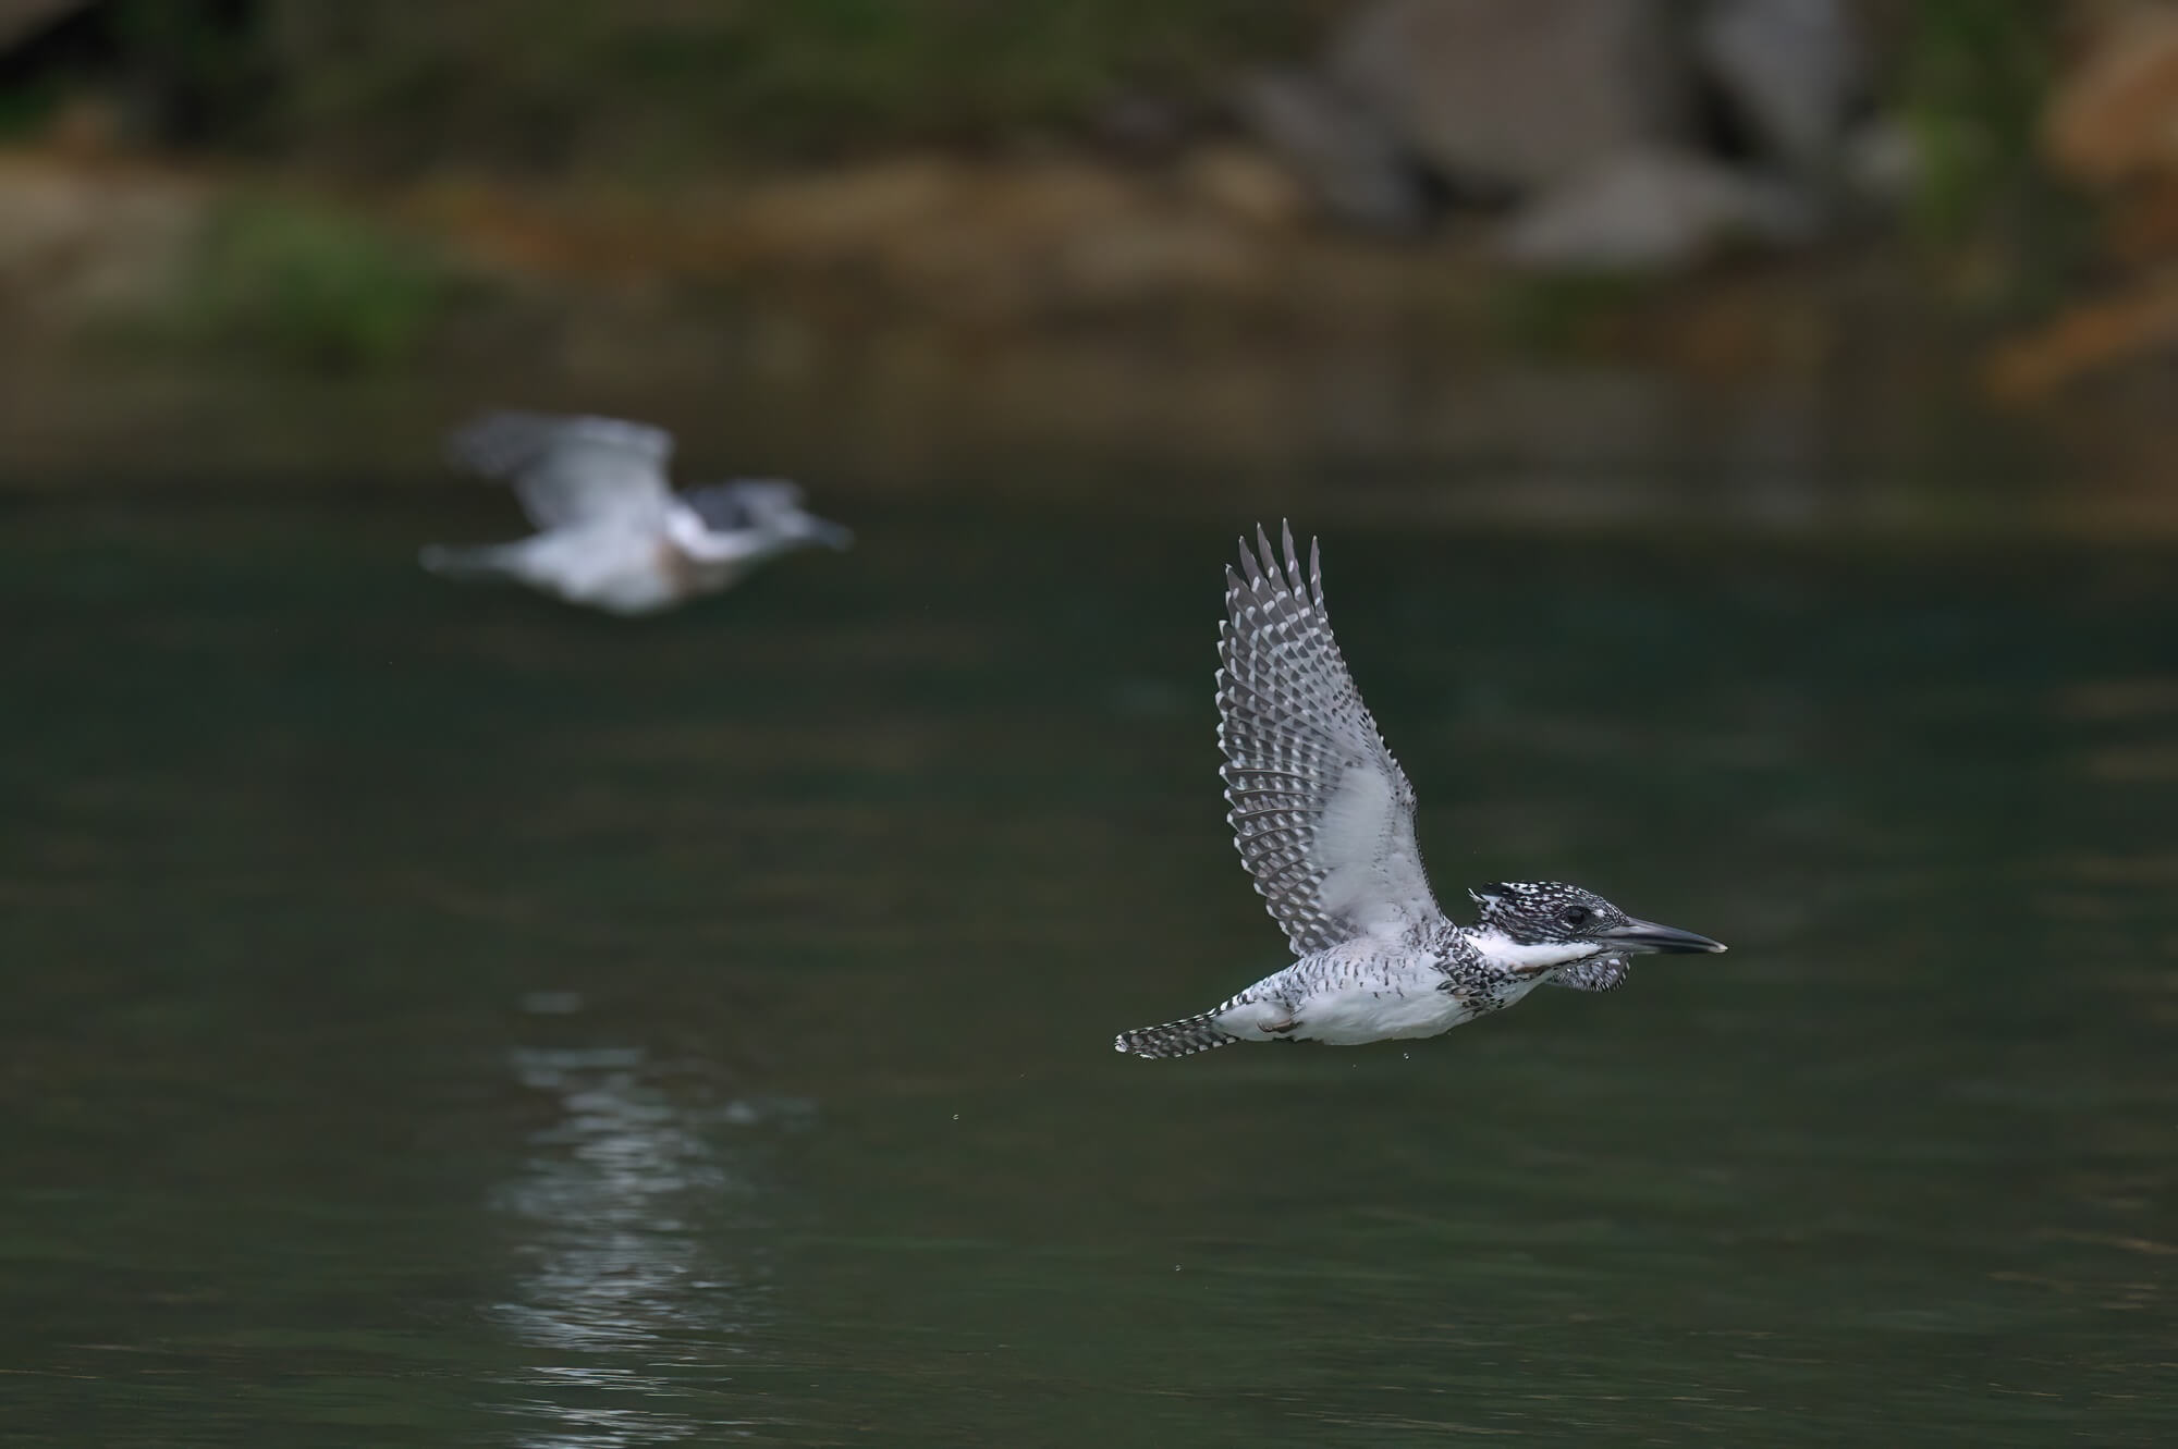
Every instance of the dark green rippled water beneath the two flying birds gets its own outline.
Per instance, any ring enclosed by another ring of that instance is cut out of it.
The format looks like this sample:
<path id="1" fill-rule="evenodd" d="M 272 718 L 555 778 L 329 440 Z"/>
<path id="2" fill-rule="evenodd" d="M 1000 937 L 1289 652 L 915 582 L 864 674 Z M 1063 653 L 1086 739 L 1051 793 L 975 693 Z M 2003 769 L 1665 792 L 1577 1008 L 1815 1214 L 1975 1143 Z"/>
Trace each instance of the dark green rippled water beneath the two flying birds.
<path id="1" fill-rule="evenodd" d="M 1231 529 L 854 522 L 0 513 L 0 1445 L 2178 1442 L 2178 559 L 1337 529 L 1440 894 L 1734 951 L 1167 1064 Z"/>

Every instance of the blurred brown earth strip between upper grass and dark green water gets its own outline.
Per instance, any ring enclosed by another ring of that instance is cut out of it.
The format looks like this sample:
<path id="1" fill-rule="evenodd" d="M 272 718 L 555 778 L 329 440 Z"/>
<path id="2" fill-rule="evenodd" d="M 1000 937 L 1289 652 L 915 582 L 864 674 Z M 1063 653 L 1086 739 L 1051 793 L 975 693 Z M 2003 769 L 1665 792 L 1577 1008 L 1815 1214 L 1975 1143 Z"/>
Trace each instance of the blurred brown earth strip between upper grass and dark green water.
<path id="1" fill-rule="evenodd" d="M 449 422 L 514 403 L 849 492 L 2169 531 L 2161 381 L 1991 387 L 1991 355 L 2078 344 L 1971 320 L 1973 285 L 1873 235 L 1522 274 L 1481 226 L 1329 228 L 1235 144 L 673 196 L 48 148 L 0 157 L 0 485 L 427 481 Z M 1718 481 L 1655 496 L 1662 468 Z"/>

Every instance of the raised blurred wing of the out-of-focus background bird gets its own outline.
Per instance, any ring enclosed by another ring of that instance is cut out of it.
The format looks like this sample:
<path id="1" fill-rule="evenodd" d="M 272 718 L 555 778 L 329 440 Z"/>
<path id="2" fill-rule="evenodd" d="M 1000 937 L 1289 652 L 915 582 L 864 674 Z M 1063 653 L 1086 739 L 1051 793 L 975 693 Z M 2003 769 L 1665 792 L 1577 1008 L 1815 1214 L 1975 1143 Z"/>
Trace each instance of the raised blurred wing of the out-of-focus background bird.
<path id="1" fill-rule="evenodd" d="M 486 413 L 449 444 L 455 463 L 514 483 L 538 529 L 664 518 L 673 435 L 616 418 Z"/>

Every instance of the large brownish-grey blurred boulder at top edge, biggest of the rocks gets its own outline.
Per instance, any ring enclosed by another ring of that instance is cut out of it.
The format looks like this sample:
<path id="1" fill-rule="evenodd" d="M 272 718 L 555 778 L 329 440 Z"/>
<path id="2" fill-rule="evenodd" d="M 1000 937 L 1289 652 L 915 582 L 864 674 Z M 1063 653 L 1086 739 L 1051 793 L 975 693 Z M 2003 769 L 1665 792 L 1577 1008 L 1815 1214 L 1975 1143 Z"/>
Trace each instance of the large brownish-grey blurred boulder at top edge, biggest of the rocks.
<path id="1" fill-rule="evenodd" d="M 1664 0 L 1376 0 L 1329 74 L 1453 185 L 1525 191 L 1690 128 L 1684 33 Z"/>

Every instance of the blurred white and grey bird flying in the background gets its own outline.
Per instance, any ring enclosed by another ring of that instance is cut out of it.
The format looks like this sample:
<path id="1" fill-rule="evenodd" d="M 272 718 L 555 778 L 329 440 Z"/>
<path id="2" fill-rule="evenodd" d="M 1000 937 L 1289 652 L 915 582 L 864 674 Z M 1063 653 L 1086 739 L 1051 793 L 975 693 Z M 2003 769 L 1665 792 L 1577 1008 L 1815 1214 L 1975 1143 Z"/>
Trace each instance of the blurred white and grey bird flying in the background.
<path id="1" fill-rule="evenodd" d="M 423 550 L 438 574 L 499 577 L 610 614 L 656 614 L 717 594 L 764 559 L 854 535 L 802 507 L 780 479 L 666 483 L 673 435 L 616 418 L 486 413 L 449 455 L 514 485 L 536 533 L 512 544 Z"/>

